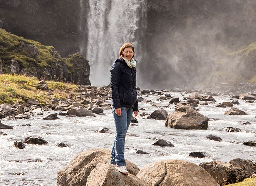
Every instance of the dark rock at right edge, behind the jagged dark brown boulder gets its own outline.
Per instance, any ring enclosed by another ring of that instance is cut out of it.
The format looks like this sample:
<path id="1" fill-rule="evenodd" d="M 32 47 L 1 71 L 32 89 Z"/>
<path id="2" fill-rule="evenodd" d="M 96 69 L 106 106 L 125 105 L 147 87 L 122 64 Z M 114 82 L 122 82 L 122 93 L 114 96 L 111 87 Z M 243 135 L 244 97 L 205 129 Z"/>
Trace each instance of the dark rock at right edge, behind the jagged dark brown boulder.
<path id="1" fill-rule="evenodd" d="M 256 172 L 256 164 L 253 163 L 251 160 L 237 158 L 230 160 L 229 163 L 234 167 L 238 167 L 249 172 L 250 174 Z"/>

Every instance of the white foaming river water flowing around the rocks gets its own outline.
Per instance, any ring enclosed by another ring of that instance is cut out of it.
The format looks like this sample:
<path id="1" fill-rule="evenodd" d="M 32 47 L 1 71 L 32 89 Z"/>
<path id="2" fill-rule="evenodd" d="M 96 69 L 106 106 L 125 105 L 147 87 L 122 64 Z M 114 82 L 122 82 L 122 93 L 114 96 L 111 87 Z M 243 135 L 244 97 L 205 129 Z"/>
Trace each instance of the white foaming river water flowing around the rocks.
<path id="1" fill-rule="evenodd" d="M 171 92 L 172 97 L 182 97 Z M 183 94 L 186 96 L 186 94 Z M 152 101 L 157 96 L 142 96 Z M 227 101 L 224 96 L 214 97 L 217 103 Z M 160 102 L 160 101 L 156 101 Z M 161 103 L 168 103 L 168 100 Z M 245 111 L 245 116 L 229 116 L 224 112 L 229 108 L 217 108 L 215 104 L 199 106 L 199 112 L 209 118 L 207 130 L 181 130 L 164 127 L 165 121 L 144 120 L 138 116 L 138 126 L 130 126 L 126 136 L 125 158 L 142 168 L 148 163 L 165 159 L 182 159 L 193 163 L 220 160 L 228 162 L 234 158 L 256 161 L 255 147 L 241 143 L 255 140 L 256 121 L 255 104 L 239 100 L 236 108 Z M 157 108 L 149 103 L 139 103 L 140 107 L 152 113 Z M 164 108 L 168 113 L 174 111 L 174 105 Z M 139 113 L 141 113 L 140 111 Z M 44 112 L 44 115 L 49 112 Z M 65 117 L 57 120 L 42 120 L 42 116 L 32 117 L 32 120 L 7 120 L 2 123 L 12 125 L 13 130 L 1 130 L 8 135 L 0 135 L 0 185 L 57 185 L 57 171 L 65 167 L 78 153 L 90 148 L 111 149 L 115 128 L 110 110 L 104 110 L 106 116 L 97 117 Z M 239 121 L 250 121 L 251 125 L 238 124 Z M 31 126 L 21 126 L 30 124 Z M 107 127 L 110 133 L 95 132 L 99 127 Z M 229 133 L 227 127 L 240 128 L 242 132 Z M 205 140 L 205 136 L 213 134 L 221 137 L 221 142 Z M 39 135 L 49 143 L 46 145 L 26 144 L 24 149 L 13 147 L 15 141 L 22 141 L 29 135 Z M 168 140 L 175 147 L 160 147 L 152 145 L 156 140 L 146 139 L 156 137 Z M 70 148 L 59 148 L 58 142 L 67 142 Z M 150 154 L 136 154 L 141 149 Z M 207 158 L 191 158 L 190 152 L 205 152 Z M 31 162 L 32 161 L 32 162 Z M 17 175 L 19 174 L 19 175 Z"/>

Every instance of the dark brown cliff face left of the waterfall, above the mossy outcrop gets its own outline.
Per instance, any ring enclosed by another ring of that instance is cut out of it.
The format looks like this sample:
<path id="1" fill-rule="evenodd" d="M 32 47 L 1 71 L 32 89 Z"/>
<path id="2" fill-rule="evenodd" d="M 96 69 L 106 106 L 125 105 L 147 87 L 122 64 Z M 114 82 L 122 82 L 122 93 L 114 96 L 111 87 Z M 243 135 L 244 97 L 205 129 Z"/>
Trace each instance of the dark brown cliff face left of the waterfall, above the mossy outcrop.
<path id="1" fill-rule="evenodd" d="M 0 28 L 54 46 L 67 56 L 79 52 L 80 27 L 86 24 L 80 12 L 80 0 L 0 0 Z"/>

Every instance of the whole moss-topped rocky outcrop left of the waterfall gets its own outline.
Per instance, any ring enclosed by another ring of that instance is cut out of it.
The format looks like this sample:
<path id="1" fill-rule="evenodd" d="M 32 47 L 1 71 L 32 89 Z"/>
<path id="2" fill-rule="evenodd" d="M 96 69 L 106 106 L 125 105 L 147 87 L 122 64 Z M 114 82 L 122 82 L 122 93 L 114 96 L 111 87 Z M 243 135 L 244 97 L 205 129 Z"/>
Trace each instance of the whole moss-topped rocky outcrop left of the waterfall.
<path id="1" fill-rule="evenodd" d="M 81 54 L 70 54 L 67 58 L 62 58 L 52 46 L 0 29 L 0 74 L 2 73 L 90 85 L 90 65 Z"/>

